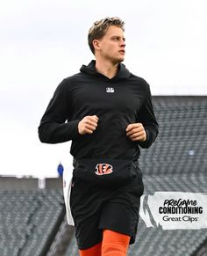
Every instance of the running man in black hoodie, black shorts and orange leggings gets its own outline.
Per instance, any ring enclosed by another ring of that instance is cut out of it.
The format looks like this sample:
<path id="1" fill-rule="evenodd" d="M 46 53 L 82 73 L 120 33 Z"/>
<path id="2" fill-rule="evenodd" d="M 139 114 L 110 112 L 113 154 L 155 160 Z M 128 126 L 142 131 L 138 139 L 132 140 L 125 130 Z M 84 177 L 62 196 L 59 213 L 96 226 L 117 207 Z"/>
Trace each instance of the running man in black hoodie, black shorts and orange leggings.
<path id="1" fill-rule="evenodd" d="M 143 194 L 139 147 L 158 135 L 151 92 L 125 59 L 124 22 L 96 21 L 89 29 L 95 60 L 62 80 L 40 125 L 42 143 L 72 140 L 69 205 L 81 256 L 125 256 L 134 243 Z"/>

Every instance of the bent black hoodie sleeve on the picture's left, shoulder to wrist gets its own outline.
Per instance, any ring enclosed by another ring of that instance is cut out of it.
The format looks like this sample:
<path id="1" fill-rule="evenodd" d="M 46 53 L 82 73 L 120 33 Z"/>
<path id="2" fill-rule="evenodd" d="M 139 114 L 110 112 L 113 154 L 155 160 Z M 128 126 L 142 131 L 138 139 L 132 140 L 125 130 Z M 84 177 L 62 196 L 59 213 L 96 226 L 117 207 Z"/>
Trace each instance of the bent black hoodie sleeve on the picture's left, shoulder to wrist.
<path id="1" fill-rule="evenodd" d="M 79 135 L 79 120 L 69 121 L 69 111 L 68 80 L 64 79 L 54 91 L 40 121 L 39 140 L 42 143 L 64 143 Z"/>

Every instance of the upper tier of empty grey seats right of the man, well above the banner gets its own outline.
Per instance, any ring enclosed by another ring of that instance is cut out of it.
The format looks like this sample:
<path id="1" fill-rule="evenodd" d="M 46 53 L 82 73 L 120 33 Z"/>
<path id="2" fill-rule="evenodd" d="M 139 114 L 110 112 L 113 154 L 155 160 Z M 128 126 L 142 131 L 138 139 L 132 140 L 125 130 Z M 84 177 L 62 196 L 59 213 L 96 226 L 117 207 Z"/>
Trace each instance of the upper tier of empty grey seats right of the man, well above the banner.
<path id="1" fill-rule="evenodd" d="M 207 173 L 207 98 L 154 97 L 160 134 L 139 163 L 145 174 Z"/>

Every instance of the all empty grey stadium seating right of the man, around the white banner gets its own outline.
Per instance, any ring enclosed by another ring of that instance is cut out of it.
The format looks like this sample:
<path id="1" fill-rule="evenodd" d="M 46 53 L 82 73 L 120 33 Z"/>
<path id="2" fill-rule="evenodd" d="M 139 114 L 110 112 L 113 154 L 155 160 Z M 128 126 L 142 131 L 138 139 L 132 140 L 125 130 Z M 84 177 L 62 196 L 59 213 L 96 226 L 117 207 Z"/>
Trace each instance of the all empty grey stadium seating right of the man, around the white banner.
<path id="1" fill-rule="evenodd" d="M 207 97 L 154 97 L 153 105 L 160 133 L 150 149 L 141 150 L 144 193 L 206 193 Z M 140 218 L 138 230 L 129 255 L 207 255 L 206 229 L 146 228 Z"/>

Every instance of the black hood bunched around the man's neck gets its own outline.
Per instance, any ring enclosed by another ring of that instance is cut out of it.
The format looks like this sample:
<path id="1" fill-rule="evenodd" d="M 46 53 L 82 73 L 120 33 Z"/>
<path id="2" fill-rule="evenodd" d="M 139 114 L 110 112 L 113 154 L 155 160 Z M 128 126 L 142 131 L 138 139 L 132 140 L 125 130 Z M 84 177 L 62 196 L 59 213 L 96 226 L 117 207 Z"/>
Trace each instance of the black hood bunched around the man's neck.
<path id="1" fill-rule="evenodd" d="M 93 60 L 93 61 L 89 62 L 88 66 L 82 65 L 82 68 L 80 69 L 80 71 L 82 73 L 92 75 L 92 76 L 105 77 L 101 73 L 98 73 L 96 71 L 95 65 L 96 65 L 96 61 Z M 125 65 L 122 63 L 119 63 L 118 64 L 118 73 L 115 77 L 113 77 L 111 79 L 117 80 L 117 79 L 128 78 L 130 76 L 131 76 L 131 73 L 128 69 L 125 68 Z"/>

